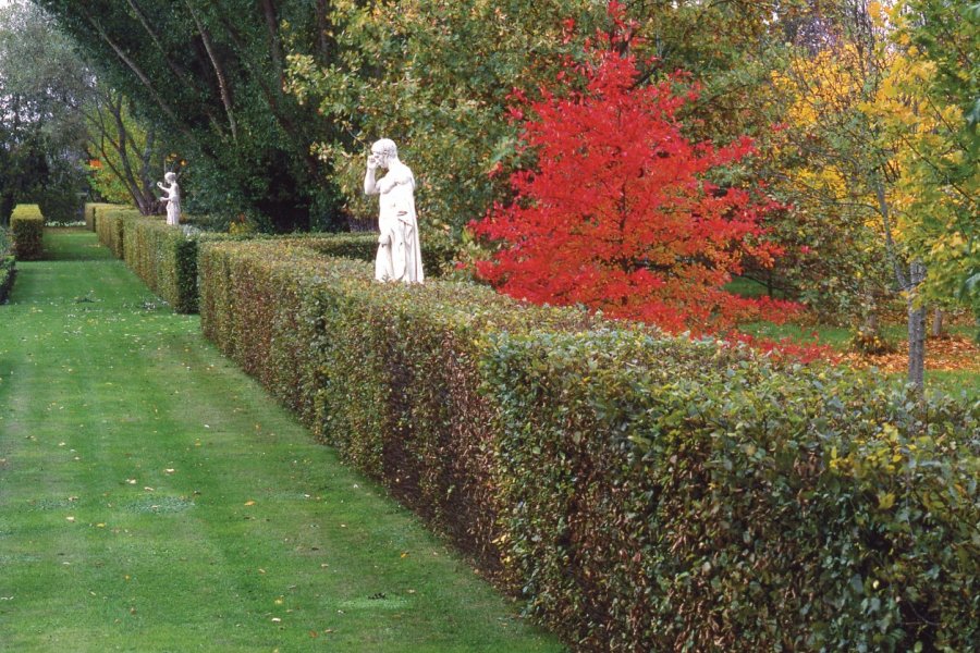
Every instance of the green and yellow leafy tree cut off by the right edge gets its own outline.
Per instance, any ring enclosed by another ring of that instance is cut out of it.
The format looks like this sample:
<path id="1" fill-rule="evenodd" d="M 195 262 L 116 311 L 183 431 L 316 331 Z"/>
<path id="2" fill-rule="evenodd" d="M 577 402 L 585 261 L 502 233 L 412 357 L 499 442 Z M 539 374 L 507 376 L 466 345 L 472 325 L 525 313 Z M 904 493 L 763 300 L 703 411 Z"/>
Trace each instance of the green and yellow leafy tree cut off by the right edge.
<path id="1" fill-rule="evenodd" d="M 867 111 L 894 144 L 898 231 L 928 267 L 922 297 L 980 318 L 980 3 L 907 0 L 889 20 L 896 54 Z"/>

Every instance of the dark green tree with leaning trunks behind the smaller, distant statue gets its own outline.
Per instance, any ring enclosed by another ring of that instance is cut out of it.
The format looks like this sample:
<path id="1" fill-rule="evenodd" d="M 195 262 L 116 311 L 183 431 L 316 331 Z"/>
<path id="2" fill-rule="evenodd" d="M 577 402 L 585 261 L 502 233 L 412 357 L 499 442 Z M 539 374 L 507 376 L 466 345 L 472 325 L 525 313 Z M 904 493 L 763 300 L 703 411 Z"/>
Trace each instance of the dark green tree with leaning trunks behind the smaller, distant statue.
<path id="1" fill-rule="evenodd" d="M 246 212 L 277 230 L 339 226 L 329 168 L 309 149 L 313 111 L 282 90 L 283 27 L 329 50 L 326 3 L 37 3 L 189 162 L 187 210 Z"/>

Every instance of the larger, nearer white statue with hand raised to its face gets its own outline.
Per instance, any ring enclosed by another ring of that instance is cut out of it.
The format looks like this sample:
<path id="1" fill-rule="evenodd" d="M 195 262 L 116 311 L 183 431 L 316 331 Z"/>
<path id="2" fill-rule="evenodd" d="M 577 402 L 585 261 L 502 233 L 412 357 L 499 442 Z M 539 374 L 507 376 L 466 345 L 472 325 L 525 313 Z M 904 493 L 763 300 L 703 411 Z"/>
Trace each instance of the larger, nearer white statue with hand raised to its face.
<path id="1" fill-rule="evenodd" d="M 375 171 L 379 168 L 388 170 L 388 174 L 376 181 Z M 415 214 L 415 176 L 399 160 L 393 140 L 382 138 L 371 146 L 364 192 L 366 195 L 381 196 L 378 215 L 381 235 L 375 259 L 375 279 L 422 283 L 425 275 Z"/>

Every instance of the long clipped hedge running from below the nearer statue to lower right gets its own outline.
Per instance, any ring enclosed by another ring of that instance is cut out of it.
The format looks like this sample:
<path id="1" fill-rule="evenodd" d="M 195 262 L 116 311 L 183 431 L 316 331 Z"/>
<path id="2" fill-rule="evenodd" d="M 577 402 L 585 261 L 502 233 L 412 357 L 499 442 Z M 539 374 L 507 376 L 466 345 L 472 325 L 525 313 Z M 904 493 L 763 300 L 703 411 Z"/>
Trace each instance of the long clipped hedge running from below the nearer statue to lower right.
<path id="1" fill-rule="evenodd" d="M 980 404 L 281 244 L 200 261 L 206 336 L 578 650 L 980 637 Z"/>

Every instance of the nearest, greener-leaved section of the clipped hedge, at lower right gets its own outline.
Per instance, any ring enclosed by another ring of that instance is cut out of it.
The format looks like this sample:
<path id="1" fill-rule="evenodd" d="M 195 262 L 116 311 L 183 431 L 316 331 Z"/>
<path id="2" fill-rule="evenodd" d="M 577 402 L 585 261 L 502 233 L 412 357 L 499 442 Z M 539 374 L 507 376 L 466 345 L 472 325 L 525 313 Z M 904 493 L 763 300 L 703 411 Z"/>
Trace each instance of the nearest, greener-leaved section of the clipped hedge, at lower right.
<path id="1" fill-rule="evenodd" d="M 922 412 L 880 379 L 628 332 L 500 336 L 483 369 L 507 554 L 584 648 L 980 636 L 980 405 Z"/>

